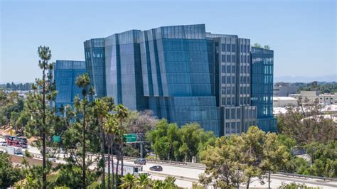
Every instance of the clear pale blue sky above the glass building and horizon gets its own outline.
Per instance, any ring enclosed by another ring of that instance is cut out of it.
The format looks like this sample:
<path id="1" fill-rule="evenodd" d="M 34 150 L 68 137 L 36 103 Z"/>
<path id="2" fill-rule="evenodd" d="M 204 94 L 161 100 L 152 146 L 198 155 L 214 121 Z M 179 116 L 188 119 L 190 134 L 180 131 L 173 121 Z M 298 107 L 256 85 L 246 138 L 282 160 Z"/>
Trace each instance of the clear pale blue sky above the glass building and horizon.
<path id="1" fill-rule="evenodd" d="M 41 77 L 38 46 L 52 60 L 85 60 L 83 41 L 131 29 L 205 23 L 274 50 L 274 77 L 337 73 L 336 1 L 0 0 L 0 83 Z"/>

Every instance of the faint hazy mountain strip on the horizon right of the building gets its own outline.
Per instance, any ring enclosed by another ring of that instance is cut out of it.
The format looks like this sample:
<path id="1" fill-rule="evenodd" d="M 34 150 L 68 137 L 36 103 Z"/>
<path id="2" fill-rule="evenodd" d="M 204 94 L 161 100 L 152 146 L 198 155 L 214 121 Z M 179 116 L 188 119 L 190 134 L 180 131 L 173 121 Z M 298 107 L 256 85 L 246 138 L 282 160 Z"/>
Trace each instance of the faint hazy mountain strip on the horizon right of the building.
<path id="1" fill-rule="evenodd" d="M 310 76 L 278 76 L 274 77 L 274 82 L 337 82 L 337 74 L 324 75 L 319 77 Z"/>

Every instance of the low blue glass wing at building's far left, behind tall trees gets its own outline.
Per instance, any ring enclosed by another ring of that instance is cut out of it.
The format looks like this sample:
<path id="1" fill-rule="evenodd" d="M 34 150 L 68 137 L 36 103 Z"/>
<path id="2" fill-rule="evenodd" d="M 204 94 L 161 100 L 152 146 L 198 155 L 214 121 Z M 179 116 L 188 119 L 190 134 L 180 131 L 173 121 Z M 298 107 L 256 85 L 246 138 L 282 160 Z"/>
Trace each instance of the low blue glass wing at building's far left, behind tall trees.
<path id="1" fill-rule="evenodd" d="M 56 60 L 54 65 L 54 80 L 58 95 L 55 107 L 73 105 L 76 95 L 82 95 L 82 90 L 75 84 L 76 77 L 86 72 L 84 61 Z"/>

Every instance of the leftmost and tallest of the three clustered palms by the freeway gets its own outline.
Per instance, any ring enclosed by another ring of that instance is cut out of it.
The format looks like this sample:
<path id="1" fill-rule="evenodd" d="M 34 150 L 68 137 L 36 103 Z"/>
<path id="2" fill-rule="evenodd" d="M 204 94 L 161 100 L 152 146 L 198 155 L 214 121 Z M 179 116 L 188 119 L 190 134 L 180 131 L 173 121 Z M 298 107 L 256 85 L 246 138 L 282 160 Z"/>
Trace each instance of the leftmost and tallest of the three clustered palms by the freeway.
<path id="1" fill-rule="evenodd" d="M 107 117 L 109 107 L 102 99 L 95 99 L 95 112 L 97 114 L 98 126 L 100 127 L 100 151 L 102 165 L 102 188 L 105 188 L 105 132 L 103 129 L 103 119 Z"/>

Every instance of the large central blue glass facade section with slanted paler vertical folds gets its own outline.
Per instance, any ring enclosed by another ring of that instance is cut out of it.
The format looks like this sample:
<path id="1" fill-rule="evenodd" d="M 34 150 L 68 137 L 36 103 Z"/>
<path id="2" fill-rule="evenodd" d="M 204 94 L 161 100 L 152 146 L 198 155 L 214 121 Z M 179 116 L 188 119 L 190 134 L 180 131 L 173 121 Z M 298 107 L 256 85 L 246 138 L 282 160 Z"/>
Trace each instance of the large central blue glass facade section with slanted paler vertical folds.
<path id="1" fill-rule="evenodd" d="M 205 25 L 142 31 L 140 46 L 149 109 L 178 125 L 198 122 L 221 135 L 219 109 L 211 91 Z"/>

